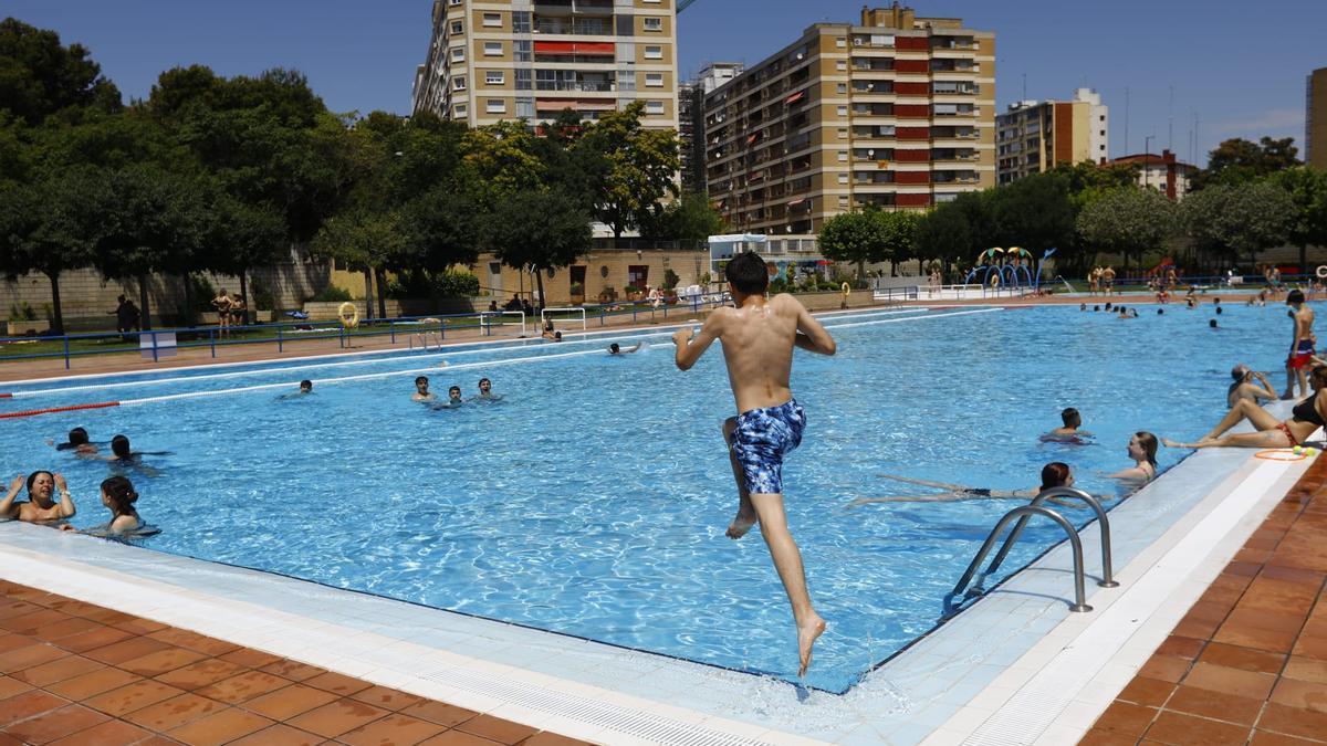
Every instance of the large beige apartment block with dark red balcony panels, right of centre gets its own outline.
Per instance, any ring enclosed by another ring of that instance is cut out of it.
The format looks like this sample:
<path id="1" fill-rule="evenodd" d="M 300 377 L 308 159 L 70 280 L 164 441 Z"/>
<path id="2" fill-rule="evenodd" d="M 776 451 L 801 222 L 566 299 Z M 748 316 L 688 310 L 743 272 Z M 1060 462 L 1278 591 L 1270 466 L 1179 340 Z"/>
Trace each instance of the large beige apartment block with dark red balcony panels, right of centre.
<path id="1" fill-rule="evenodd" d="M 898 4 L 815 24 L 706 96 L 705 137 L 710 199 L 744 232 L 994 186 L 995 35 Z"/>

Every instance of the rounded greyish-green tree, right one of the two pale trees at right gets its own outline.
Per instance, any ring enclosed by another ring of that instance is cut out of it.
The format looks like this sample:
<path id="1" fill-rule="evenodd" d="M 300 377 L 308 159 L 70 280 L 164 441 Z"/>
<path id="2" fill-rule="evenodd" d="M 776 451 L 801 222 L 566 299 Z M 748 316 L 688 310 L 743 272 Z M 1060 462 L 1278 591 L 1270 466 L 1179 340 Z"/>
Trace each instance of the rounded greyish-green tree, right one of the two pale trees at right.
<path id="1" fill-rule="evenodd" d="M 1258 252 L 1290 238 L 1295 203 L 1271 183 L 1213 185 L 1185 196 L 1180 212 L 1200 248 L 1255 263 Z"/>

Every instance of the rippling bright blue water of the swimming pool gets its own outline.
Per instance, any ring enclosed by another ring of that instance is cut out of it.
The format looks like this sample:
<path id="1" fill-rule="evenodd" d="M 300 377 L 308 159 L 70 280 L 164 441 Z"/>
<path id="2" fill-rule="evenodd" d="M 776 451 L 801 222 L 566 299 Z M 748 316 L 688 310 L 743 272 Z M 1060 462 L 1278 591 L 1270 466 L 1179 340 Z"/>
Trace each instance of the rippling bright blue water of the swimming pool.
<path id="1" fill-rule="evenodd" d="M 1201 434 L 1223 409 L 1230 366 L 1277 370 L 1289 342 L 1281 307 L 1231 305 L 1218 331 L 1210 307 L 1139 308 L 1127 321 L 1076 308 L 825 320 L 839 354 L 798 353 L 794 390 L 809 423 L 784 473 L 812 597 L 831 623 L 808 685 L 843 692 L 933 628 L 1014 504 L 848 507 L 918 491 L 880 474 L 1022 488 L 1043 463 L 1067 461 L 1079 486 L 1113 496 L 1101 471 L 1131 463 L 1135 430 Z M 8 419 L 0 446 L 11 473 L 62 471 L 81 527 L 106 519 L 96 490 L 107 465 L 44 439 L 82 425 L 96 441 L 126 433 L 137 449 L 171 451 L 147 459 L 161 474 L 129 473 L 143 518 L 163 530 L 149 550 L 791 680 L 791 612 L 764 544 L 758 532 L 723 536 L 736 496 L 719 430 L 733 414 L 722 354 L 681 373 L 666 335 L 640 354 L 600 352 L 630 338 L 72 381 L 90 388 L 0 408 L 227 393 Z M 439 396 L 451 384 L 472 396 L 487 376 L 502 401 L 411 402 L 414 370 L 441 360 L 450 366 L 429 373 Z M 305 377 L 313 396 L 277 401 Z M 232 390 L 267 384 L 283 388 Z M 1038 442 L 1064 406 L 1083 411 L 1095 445 Z M 1162 467 L 1182 455 L 1162 450 Z M 1055 531 L 1035 527 L 1006 568 Z"/>

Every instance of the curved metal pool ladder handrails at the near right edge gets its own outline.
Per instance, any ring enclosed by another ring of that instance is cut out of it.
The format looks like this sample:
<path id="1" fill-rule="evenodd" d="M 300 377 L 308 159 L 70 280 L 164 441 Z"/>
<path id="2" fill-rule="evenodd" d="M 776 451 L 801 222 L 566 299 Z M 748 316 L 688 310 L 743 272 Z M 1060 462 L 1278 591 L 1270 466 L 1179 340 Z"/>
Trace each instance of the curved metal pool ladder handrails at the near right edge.
<path id="1" fill-rule="evenodd" d="M 1074 612 L 1092 611 L 1092 607 L 1087 605 L 1085 596 L 1083 592 L 1083 542 L 1079 539 L 1079 534 L 1074 528 L 1072 523 L 1066 520 L 1066 518 L 1060 515 L 1058 511 L 1044 507 L 1043 503 L 1046 503 L 1046 500 L 1050 500 L 1051 498 L 1079 499 L 1087 503 L 1087 506 L 1091 507 L 1093 512 L 1096 512 L 1097 526 L 1101 527 L 1101 580 L 1097 581 L 1097 585 L 1100 585 L 1101 588 L 1115 588 L 1119 585 L 1119 583 L 1115 580 L 1113 573 L 1111 572 L 1111 519 L 1107 518 L 1105 510 L 1101 507 L 1101 503 L 1097 502 L 1097 499 L 1093 498 L 1092 495 L 1084 492 L 1083 490 L 1075 490 L 1072 487 L 1054 487 L 1042 491 L 1035 498 L 1032 498 L 1031 503 L 1022 507 L 1016 507 L 1006 512 L 999 519 L 999 522 L 995 524 L 995 528 L 991 530 L 990 536 L 986 538 L 986 543 L 982 544 L 981 551 L 978 551 L 977 556 L 973 558 L 973 563 L 967 565 L 967 572 L 963 573 L 963 577 L 958 581 L 958 585 L 954 585 L 953 592 L 950 592 L 949 596 L 945 597 L 945 607 L 947 609 L 954 609 L 958 605 L 954 603 L 954 599 L 959 599 L 959 596 L 967 588 L 969 583 L 971 583 L 973 576 L 977 575 L 977 568 L 981 567 L 982 561 L 986 559 L 986 555 L 990 554 L 991 547 L 995 546 L 995 539 L 999 538 L 999 535 L 1005 531 L 1005 527 L 1009 526 L 1010 522 L 1013 522 L 1015 518 L 1018 519 L 1018 524 L 1014 526 L 1014 530 L 1009 532 L 1009 538 L 1005 539 L 1005 544 L 995 555 L 995 559 L 991 560 L 991 564 L 990 567 L 986 568 L 986 572 L 982 573 L 982 579 L 977 581 L 975 588 L 981 588 L 982 580 L 985 580 L 987 575 L 999 569 L 999 565 L 1005 561 L 1005 558 L 1009 556 L 1009 551 L 1014 547 L 1014 542 L 1016 542 L 1019 535 L 1023 534 L 1023 528 L 1027 526 L 1028 519 L 1031 519 L 1034 515 L 1043 515 L 1058 523 L 1060 528 L 1064 530 L 1064 534 L 1070 539 L 1070 548 L 1074 552 L 1074 604 L 1070 605 L 1070 611 Z M 978 593 L 969 592 L 969 596 L 965 596 L 962 600 L 966 600 L 967 597 L 975 595 Z M 959 603 L 962 603 L 962 600 Z"/>

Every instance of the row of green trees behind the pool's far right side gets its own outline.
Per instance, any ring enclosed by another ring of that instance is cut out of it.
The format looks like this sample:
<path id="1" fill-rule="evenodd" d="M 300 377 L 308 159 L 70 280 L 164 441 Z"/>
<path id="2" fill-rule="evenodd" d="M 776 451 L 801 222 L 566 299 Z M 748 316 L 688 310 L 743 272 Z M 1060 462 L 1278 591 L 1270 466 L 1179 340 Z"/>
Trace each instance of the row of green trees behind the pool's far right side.
<path id="1" fill-rule="evenodd" d="M 1327 246 L 1327 173 L 1295 161 L 1289 141 L 1227 141 L 1173 203 L 1139 186 L 1132 167 L 1059 165 L 1010 186 L 962 194 L 926 214 L 868 208 L 831 218 L 820 232 L 827 258 L 962 263 L 983 248 L 1019 246 L 1082 273 L 1097 254 L 1141 264 L 1149 251 L 1190 239 L 1198 258 L 1254 261 L 1286 243 Z M 1196 258 L 1197 259 L 1197 258 Z"/>

